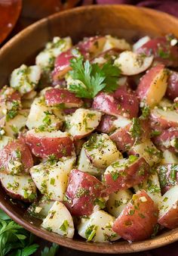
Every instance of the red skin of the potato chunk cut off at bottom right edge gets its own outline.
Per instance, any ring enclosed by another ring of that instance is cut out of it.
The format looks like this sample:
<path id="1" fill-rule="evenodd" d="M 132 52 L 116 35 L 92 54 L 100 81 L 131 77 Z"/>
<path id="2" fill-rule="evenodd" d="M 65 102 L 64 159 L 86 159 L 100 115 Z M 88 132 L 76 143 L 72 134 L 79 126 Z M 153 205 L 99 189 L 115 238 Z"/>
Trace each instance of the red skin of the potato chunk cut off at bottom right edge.
<path id="1" fill-rule="evenodd" d="M 176 208 L 171 208 L 162 217 L 159 217 L 158 223 L 161 226 L 167 227 L 167 229 L 175 229 L 178 227 L 178 202 Z"/>

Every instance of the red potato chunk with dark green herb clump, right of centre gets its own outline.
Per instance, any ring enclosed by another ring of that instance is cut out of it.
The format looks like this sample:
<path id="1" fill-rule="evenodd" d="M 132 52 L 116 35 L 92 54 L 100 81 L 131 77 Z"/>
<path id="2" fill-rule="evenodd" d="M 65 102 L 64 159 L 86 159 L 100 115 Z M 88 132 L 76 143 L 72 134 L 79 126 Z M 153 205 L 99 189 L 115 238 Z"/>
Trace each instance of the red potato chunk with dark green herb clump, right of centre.
<path id="1" fill-rule="evenodd" d="M 149 137 L 150 127 L 147 120 L 139 118 L 133 118 L 130 123 L 118 128 L 110 135 L 110 139 L 115 142 L 119 151 L 128 151 L 135 142 Z"/>

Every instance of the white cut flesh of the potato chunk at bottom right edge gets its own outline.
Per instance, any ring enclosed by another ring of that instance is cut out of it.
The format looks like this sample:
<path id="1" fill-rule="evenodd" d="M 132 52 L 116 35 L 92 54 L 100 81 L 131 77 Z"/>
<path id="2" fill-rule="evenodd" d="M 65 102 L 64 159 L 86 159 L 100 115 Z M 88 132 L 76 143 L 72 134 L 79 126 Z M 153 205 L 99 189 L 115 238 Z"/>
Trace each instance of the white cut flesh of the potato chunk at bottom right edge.
<path id="1" fill-rule="evenodd" d="M 178 205 L 178 186 L 173 186 L 162 196 L 161 208 L 158 219 L 164 216 L 171 208 L 177 208 Z"/>

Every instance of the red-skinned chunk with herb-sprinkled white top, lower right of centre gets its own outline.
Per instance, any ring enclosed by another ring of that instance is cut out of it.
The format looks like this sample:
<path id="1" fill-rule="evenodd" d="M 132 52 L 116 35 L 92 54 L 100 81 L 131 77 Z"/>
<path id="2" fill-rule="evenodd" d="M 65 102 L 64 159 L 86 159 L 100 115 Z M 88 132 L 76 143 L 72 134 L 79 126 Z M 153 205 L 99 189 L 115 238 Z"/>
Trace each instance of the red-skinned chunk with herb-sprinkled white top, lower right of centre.
<path id="1" fill-rule="evenodd" d="M 104 173 L 104 179 L 109 192 L 116 192 L 142 183 L 148 175 L 149 164 L 145 159 L 131 155 L 109 165 Z"/>

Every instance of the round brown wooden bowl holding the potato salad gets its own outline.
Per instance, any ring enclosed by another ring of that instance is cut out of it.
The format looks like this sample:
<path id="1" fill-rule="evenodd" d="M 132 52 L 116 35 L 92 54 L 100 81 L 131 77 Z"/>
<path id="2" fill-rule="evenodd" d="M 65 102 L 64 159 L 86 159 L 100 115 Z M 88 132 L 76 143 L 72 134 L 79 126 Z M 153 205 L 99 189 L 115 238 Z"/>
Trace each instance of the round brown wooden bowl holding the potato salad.
<path id="1" fill-rule="evenodd" d="M 161 36 L 174 33 L 178 37 L 177 28 L 178 20 L 168 14 L 127 5 L 89 6 L 53 14 L 32 24 L 0 49 L 0 86 L 7 83 L 15 67 L 19 67 L 24 62 L 29 64 L 32 60 L 34 61 L 33 58 L 37 52 L 53 36 L 72 36 L 73 41 L 77 42 L 83 36 L 100 33 L 112 34 L 133 42 L 145 35 Z M 84 239 L 77 235 L 75 239 L 66 239 L 41 229 L 40 221 L 26 214 L 20 204 L 12 204 L 1 188 L 0 208 L 35 235 L 81 251 L 110 254 L 145 251 L 178 240 L 178 229 L 164 230 L 154 239 L 133 243 L 126 241 L 107 244 L 84 242 Z"/>

